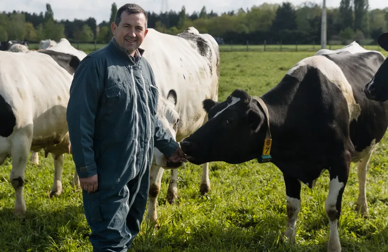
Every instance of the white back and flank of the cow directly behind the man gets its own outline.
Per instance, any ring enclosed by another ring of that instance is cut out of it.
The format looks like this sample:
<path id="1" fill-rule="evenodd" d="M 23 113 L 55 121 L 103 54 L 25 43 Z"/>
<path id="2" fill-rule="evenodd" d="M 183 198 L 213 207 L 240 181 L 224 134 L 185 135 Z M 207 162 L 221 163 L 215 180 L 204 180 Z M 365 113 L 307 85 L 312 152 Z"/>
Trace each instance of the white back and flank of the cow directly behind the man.
<path id="1" fill-rule="evenodd" d="M 218 95 L 218 51 L 214 51 L 209 39 L 203 37 L 201 41 L 211 56 L 204 57 L 183 37 L 153 29 L 149 29 L 141 46 L 145 49 L 143 56 L 154 72 L 160 95 L 167 98 L 170 90 L 176 91 L 176 110 L 181 119 L 177 141 L 203 124 L 206 112 L 202 109 L 201 101 L 217 99 Z"/>

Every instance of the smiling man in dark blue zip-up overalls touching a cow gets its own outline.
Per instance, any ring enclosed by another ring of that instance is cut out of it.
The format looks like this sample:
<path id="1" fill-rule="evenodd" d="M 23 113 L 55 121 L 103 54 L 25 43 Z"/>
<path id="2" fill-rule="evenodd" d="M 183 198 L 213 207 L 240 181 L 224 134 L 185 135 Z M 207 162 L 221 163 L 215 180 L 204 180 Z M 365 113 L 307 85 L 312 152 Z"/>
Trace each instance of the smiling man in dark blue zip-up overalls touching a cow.
<path id="1" fill-rule="evenodd" d="M 93 251 L 124 252 L 140 231 L 153 147 L 186 161 L 156 112 L 158 89 L 139 46 L 146 12 L 125 4 L 113 38 L 80 63 L 70 88 L 67 122 Z"/>

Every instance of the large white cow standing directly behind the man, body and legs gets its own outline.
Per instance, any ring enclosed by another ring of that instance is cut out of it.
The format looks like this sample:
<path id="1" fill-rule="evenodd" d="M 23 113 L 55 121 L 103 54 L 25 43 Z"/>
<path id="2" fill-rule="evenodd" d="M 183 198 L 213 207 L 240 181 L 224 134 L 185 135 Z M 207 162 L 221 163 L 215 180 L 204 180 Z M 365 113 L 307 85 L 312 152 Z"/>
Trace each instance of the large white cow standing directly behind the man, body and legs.
<path id="1" fill-rule="evenodd" d="M 209 34 L 191 27 L 177 36 L 149 29 L 141 46 L 159 88 L 158 116 L 163 128 L 176 141 L 192 134 L 207 121 L 202 108 L 206 98 L 218 98 L 220 57 L 218 44 Z M 157 148 L 150 170 L 147 218 L 156 221 L 157 197 L 167 160 Z M 210 190 L 209 163 L 202 165 L 202 194 Z M 167 192 L 169 203 L 178 197 L 178 170 L 171 171 Z"/>

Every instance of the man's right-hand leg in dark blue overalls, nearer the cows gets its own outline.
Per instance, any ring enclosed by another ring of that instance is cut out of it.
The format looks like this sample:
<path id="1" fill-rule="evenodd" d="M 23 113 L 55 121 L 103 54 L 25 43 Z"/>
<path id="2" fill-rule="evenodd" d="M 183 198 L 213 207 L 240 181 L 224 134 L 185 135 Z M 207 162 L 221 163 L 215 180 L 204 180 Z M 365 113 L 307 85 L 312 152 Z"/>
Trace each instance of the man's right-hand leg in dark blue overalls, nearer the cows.
<path id="1" fill-rule="evenodd" d="M 146 211 L 149 190 L 149 168 L 147 167 L 142 172 L 128 183 L 129 213 L 127 216 L 127 227 L 131 234 L 130 241 L 127 243 L 128 248 L 130 248 L 132 240 L 140 232 L 140 225 Z"/>

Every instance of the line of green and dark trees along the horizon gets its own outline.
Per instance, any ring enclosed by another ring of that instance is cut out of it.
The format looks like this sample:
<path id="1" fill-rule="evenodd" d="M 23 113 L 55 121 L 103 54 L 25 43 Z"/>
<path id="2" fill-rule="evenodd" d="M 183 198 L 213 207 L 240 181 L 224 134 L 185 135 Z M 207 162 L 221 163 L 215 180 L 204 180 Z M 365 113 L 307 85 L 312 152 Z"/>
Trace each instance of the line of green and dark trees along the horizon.
<path id="1" fill-rule="evenodd" d="M 112 38 L 111 23 L 117 6 L 112 4 L 109 21 L 97 25 L 96 19 L 55 20 L 50 4 L 45 13 L 28 12 L 0 14 L 0 41 L 25 40 L 36 43 L 43 39 L 70 42 L 108 43 Z M 339 8 L 328 8 L 327 39 L 337 43 L 361 41 L 375 43 L 377 36 L 388 30 L 388 8 L 369 10 L 368 0 L 340 0 Z M 218 15 L 204 6 L 199 12 L 147 12 L 148 28 L 168 34 L 178 34 L 194 26 L 201 33 L 209 33 L 222 43 L 262 44 L 319 44 L 321 39 L 322 7 L 305 2 L 293 6 L 263 3 L 250 9 L 239 9 Z"/>

